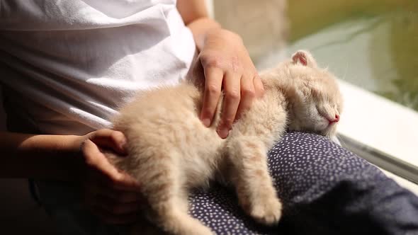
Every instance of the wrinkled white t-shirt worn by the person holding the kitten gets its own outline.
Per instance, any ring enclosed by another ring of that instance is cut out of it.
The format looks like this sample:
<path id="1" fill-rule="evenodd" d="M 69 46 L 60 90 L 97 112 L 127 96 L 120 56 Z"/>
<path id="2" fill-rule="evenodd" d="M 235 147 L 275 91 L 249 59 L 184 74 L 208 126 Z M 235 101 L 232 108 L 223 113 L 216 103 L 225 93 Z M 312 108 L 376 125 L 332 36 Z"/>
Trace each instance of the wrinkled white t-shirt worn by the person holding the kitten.
<path id="1" fill-rule="evenodd" d="M 111 127 L 135 92 L 182 79 L 195 52 L 175 0 L 1 0 L 0 84 L 45 134 Z"/>

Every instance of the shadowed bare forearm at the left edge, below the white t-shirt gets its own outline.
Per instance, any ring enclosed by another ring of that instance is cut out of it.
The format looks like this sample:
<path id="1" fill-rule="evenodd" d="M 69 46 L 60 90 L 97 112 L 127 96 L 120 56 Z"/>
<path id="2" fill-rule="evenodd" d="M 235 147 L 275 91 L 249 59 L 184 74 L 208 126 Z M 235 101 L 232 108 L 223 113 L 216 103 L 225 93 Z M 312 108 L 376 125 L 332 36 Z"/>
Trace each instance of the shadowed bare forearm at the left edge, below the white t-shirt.
<path id="1" fill-rule="evenodd" d="M 71 180 L 81 137 L 0 132 L 0 178 Z"/>

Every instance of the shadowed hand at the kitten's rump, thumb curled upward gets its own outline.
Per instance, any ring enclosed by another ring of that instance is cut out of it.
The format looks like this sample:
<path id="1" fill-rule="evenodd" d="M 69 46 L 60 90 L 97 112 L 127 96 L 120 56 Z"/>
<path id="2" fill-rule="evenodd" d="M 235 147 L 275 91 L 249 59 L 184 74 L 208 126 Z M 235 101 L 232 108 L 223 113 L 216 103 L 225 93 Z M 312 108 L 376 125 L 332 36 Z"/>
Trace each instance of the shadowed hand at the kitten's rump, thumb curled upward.
<path id="1" fill-rule="evenodd" d="M 139 184 L 111 165 L 100 150 L 113 150 L 124 157 L 125 136 L 122 132 L 102 129 L 86 134 L 83 138 L 81 153 L 86 178 L 81 180 L 84 182 L 86 205 L 105 222 L 135 222 L 141 206 Z"/>

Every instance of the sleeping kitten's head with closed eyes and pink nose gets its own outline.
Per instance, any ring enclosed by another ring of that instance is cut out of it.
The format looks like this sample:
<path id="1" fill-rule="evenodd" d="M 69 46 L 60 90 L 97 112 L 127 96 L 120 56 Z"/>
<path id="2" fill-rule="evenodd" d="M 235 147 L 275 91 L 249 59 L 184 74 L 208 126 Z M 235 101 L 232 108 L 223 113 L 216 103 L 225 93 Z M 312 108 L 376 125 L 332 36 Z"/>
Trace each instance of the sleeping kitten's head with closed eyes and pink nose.
<path id="1" fill-rule="evenodd" d="M 284 66 L 288 87 L 289 129 L 332 138 L 342 111 L 342 98 L 333 74 L 317 66 L 309 52 L 300 50 Z"/>

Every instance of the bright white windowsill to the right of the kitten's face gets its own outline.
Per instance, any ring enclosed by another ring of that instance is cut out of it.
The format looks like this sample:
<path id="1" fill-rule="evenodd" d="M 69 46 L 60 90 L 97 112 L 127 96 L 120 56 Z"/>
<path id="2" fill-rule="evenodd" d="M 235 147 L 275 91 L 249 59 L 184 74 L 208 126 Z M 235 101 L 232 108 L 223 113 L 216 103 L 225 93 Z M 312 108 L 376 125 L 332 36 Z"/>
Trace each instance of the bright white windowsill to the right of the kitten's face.
<path id="1" fill-rule="evenodd" d="M 345 81 L 339 85 L 344 96 L 339 134 L 383 154 L 368 161 L 417 183 L 418 113 Z"/>

